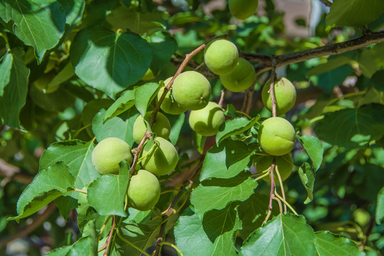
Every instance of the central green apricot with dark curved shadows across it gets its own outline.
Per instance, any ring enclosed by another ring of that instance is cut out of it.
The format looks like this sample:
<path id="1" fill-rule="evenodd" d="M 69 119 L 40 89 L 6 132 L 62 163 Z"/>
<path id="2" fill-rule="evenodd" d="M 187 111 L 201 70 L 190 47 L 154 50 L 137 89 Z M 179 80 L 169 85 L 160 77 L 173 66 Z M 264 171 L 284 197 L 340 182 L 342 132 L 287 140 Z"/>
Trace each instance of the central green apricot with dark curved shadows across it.
<path id="1" fill-rule="evenodd" d="M 215 102 L 209 102 L 203 109 L 193 110 L 189 115 L 189 125 L 193 131 L 204 136 L 217 134 L 223 122 L 224 112 Z"/>

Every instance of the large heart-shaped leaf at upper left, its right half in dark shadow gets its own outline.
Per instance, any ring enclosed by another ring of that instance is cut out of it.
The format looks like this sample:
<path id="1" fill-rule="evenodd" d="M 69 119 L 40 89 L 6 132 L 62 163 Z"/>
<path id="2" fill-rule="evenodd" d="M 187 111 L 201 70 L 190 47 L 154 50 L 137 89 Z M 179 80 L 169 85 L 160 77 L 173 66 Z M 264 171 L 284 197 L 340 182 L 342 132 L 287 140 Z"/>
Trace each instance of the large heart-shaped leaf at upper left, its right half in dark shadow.
<path id="1" fill-rule="evenodd" d="M 142 78 L 151 56 L 149 44 L 139 35 L 100 26 L 79 31 L 70 48 L 76 75 L 112 98 Z"/>

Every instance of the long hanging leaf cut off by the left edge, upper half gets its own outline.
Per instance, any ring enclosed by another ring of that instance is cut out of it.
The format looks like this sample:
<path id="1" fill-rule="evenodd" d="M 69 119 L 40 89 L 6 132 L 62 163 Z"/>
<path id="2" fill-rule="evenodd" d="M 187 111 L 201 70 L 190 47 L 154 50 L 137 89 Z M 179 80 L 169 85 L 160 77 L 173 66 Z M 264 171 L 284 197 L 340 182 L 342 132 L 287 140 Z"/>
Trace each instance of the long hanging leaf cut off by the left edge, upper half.
<path id="1" fill-rule="evenodd" d="M 20 125 L 18 116 L 21 107 L 26 104 L 28 90 L 29 70 L 26 68 L 23 55 L 24 53 L 21 48 L 14 48 L 9 53 L 6 53 L 3 61 L 0 63 L 0 71 L 5 71 L 4 77 L 2 77 L 4 81 L 1 81 L 3 92 L 0 97 L 0 120 L 2 119 L 3 124 L 14 128 L 18 128 Z M 11 65 L 11 70 L 9 70 L 9 77 L 7 79 L 6 73 L 8 73 L 9 65 Z M 8 82 L 6 82 L 7 80 Z"/>

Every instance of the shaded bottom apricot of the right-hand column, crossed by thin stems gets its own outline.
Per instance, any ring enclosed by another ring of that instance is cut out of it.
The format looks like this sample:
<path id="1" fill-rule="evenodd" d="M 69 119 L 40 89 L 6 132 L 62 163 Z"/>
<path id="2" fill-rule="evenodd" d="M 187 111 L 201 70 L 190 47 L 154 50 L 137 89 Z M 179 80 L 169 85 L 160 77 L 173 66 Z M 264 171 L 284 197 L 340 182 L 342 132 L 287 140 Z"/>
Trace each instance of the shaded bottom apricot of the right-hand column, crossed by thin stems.
<path id="1" fill-rule="evenodd" d="M 270 171 L 274 156 L 264 156 L 262 159 L 257 161 L 256 170 L 258 174 L 261 174 L 263 171 Z M 284 154 L 284 156 L 276 156 L 274 159 L 275 168 L 279 171 L 282 181 L 285 181 L 289 175 L 292 173 L 293 164 L 292 164 L 292 154 Z M 273 172 L 274 182 L 279 183 L 279 177 L 277 176 L 276 171 Z M 267 182 L 271 182 L 271 176 L 265 176 L 262 178 Z"/>

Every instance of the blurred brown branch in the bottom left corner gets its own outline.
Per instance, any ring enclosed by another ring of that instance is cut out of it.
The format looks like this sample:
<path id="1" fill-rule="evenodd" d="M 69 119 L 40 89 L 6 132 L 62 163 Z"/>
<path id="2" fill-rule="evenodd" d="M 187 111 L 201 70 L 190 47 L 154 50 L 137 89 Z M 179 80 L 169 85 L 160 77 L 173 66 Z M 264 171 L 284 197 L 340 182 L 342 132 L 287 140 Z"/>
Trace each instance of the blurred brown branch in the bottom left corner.
<path id="1" fill-rule="evenodd" d="M 9 238 L 5 238 L 4 240 L 0 241 L 0 248 L 6 247 L 6 244 L 17 239 L 17 238 L 23 238 L 29 233 L 31 233 L 36 228 L 40 227 L 41 224 L 43 224 L 44 221 L 50 216 L 51 213 L 56 209 L 55 203 L 49 203 L 46 210 L 44 210 L 41 215 L 37 215 L 35 218 L 33 218 L 33 222 L 31 225 L 28 225 L 26 227 L 20 228 L 14 235 L 11 235 Z"/>

